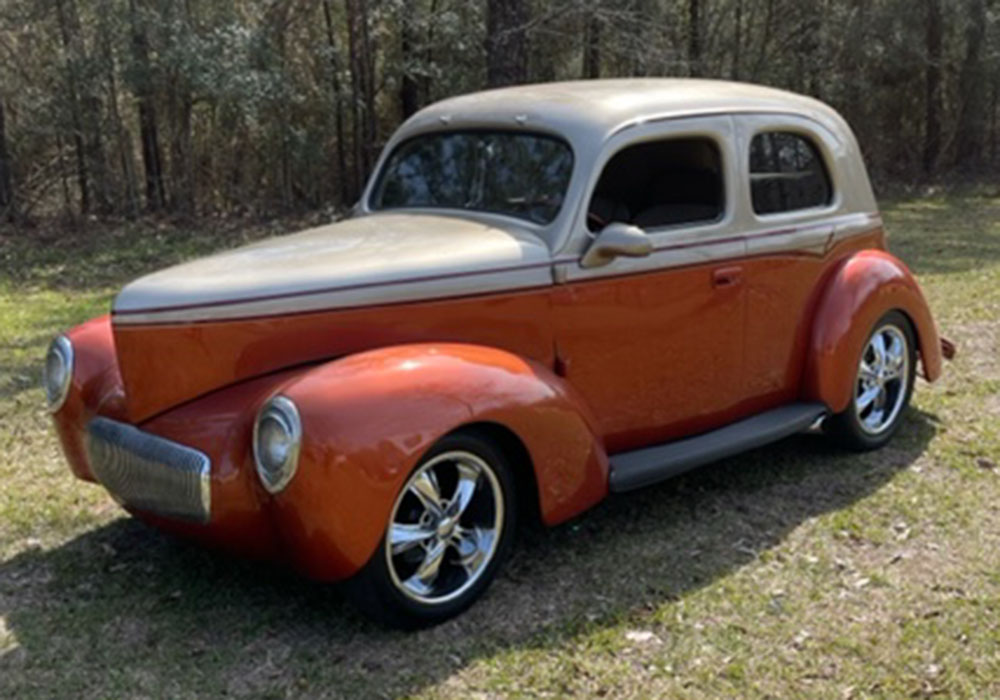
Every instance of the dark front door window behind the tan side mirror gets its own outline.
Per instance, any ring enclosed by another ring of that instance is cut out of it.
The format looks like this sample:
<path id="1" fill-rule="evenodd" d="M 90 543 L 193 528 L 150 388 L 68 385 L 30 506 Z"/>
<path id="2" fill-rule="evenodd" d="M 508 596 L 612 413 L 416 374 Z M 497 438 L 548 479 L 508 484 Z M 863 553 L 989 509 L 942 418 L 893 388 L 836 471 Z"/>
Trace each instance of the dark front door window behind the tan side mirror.
<path id="1" fill-rule="evenodd" d="M 676 138 L 628 146 L 597 181 L 587 227 L 613 222 L 653 229 L 714 221 L 724 209 L 722 156 L 709 138 Z"/>

